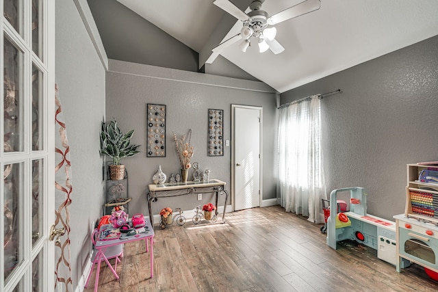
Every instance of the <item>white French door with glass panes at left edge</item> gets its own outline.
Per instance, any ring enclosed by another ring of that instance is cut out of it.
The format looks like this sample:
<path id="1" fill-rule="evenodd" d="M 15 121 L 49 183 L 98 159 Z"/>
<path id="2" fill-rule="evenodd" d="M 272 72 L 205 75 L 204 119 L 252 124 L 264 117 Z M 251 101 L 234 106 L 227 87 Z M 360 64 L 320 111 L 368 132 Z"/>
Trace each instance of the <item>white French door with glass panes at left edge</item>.
<path id="1" fill-rule="evenodd" d="M 55 3 L 0 3 L 0 291 L 53 291 Z"/>

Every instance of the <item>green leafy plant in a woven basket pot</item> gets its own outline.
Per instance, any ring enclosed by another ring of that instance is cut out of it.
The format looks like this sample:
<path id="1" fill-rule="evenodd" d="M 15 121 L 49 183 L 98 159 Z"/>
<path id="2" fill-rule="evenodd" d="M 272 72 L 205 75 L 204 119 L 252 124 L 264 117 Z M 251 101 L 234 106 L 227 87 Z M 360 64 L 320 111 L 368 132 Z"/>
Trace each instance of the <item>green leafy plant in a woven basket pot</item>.
<path id="1" fill-rule="evenodd" d="M 125 165 L 120 164 L 120 159 L 131 157 L 138 152 L 140 145 L 130 144 L 134 130 L 124 134 L 117 126 L 116 120 L 108 124 L 102 122 L 101 131 L 101 154 L 112 158 L 110 165 L 110 179 L 120 181 L 125 177 Z"/>

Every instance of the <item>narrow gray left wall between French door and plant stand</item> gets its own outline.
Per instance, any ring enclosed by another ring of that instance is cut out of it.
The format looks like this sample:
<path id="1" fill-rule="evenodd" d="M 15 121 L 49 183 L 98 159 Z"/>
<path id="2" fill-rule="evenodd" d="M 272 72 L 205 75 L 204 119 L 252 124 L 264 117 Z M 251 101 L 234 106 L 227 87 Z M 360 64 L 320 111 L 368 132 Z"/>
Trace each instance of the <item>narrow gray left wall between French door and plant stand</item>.
<path id="1" fill-rule="evenodd" d="M 70 247 L 76 287 L 89 261 L 90 226 L 103 204 L 99 130 L 105 115 L 105 70 L 73 1 L 56 3 L 55 38 L 56 82 L 72 163 Z"/>

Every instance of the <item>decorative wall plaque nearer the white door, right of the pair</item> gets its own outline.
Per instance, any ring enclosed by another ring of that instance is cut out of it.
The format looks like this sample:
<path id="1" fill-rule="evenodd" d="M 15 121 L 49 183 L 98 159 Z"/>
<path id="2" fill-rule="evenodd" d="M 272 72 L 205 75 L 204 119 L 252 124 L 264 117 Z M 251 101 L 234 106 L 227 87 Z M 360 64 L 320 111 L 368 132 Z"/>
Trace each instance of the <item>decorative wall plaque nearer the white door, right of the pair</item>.
<path id="1" fill-rule="evenodd" d="M 208 156 L 224 155 L 224 111 L 208 110 Z"/>

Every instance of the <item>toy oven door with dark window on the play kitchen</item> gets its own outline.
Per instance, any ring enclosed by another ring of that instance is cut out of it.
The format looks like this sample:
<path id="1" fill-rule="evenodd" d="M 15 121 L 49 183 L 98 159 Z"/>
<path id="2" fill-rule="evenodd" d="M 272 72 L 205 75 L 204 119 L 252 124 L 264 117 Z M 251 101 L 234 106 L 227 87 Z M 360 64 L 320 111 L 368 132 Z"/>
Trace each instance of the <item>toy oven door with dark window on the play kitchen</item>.
<path id="1" fill-rule="evenodd" d="M 428 237 L 413 230 L 400 228 L 400 254 L 428 267 L 438 268 L 438 239 Z"/>

